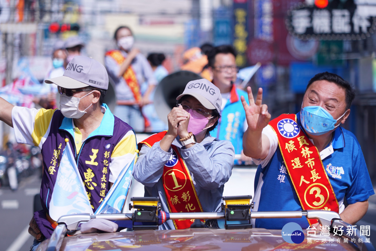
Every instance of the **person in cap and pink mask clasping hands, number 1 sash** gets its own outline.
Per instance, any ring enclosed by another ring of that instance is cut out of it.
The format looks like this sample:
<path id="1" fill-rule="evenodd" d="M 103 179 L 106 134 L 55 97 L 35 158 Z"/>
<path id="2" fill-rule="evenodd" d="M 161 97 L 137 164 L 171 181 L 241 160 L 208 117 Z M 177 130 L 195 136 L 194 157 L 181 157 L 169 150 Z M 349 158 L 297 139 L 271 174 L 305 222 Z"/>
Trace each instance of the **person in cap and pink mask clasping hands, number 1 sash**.
<path id="1" fill-rule="evenodd" d="M 133 177 L 144 184 L 146 197 L 160 198 L 166 212 L 219 212 L 235 158 L 230 141 L 209 133 L 220 118 L 220 91 L 206 79 L 193 80 L 176 100 L 167 115 L 168 130 L 138 144 Z M 159 228 L 191 224 L 168 220 Z"/>

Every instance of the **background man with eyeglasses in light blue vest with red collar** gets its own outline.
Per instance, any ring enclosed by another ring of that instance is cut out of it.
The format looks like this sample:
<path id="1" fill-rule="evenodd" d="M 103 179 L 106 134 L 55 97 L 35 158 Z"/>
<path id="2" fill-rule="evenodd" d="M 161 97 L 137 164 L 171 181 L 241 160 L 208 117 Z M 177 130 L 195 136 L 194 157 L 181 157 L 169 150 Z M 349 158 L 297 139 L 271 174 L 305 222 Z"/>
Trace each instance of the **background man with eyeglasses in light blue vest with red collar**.
<path id="1" fill-rule="evenodd" d="M 238 89 L 234 84 L 239 69 L 235 61 L 236 55 L 232 45 L 220 45 L 208 53 L 208 70 L 212 83 L 219 88 L 222 95 L 221 118 L 218 127 L 210 134 L 218 139 L 231 141 L 235 154 L 241 154 L 241 159 L 236 160 L 235 164 L 248 164 L 252 163 L 252 159 L 243 154 L 243 135 L 248 125 L 240 100 L 247 92 Z"/>

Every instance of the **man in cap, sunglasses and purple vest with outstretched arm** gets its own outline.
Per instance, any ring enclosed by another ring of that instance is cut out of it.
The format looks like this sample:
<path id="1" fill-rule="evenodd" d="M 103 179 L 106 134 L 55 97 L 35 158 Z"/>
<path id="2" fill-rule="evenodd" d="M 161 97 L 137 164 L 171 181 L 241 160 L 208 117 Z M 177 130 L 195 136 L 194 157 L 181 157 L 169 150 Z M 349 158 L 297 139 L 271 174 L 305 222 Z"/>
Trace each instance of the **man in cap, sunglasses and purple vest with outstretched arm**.
<path id="1" fill-rule="evenodd" d="M 43 156 L 40 192 L 43 210 L 34 213 L 29 229 L 38 241 L 51 236 L 57 220 L 49 216 L 49 204 L 66 145 L 75 155 L 94 211 L 124 166 L 133 161 L 136 151 L 132 127 L 102 103 L 108 88 L 108 75 L 102 64 L 76 56 L 63 76 L 45 82 L 58 86 L 59 110 L 13 106 L 0 98 L 0 119 L 14 127 L 17 142 L 39 147 Z M 74 186 L 67 182 L 67 189 L 74 191 Z"/>

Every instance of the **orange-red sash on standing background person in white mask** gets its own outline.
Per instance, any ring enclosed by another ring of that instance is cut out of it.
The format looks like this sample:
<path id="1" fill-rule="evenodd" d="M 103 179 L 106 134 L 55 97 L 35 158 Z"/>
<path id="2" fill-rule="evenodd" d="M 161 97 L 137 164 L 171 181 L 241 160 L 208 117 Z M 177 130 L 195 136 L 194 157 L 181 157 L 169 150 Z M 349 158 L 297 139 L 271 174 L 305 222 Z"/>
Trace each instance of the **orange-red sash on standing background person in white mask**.
<path id="1" fill-rule="evenodd" d="M 119 65 L 123 64 L 125 60 L 125 57 L 123 56 L 123 54 L 121 54 L 120 50 L 107 51 L 106 56 L 112 57 Z M 130 90 L 132 91 L 133 97 L 135 98 L 136 102 L 140 101 L 141 100 L 140 86 L 138 84 L 136 74 L 133 71 L 132 65 L 129 65 L 127 70 L 124 72 L 123 79 L 129 86 Z M 146 116 L 144 116 L 144 114 L 143 114 L 143 117 L 145 119 L 145 128 L 149 127 L 150 126 L 149 119 L 147 119 Z"/>

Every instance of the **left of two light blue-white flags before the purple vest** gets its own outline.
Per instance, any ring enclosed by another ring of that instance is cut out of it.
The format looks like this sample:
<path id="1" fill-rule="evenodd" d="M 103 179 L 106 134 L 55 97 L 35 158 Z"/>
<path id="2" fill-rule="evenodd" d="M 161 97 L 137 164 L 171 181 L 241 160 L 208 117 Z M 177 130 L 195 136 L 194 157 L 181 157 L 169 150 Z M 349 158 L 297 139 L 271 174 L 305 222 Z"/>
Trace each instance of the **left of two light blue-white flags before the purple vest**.
<path id="1" fill-rule="evenodd" d="M 93 210 L 67 142 L 56 176 L 49 214 L 54 221 L 57 221 L 61 216 L 72 213 L 90 213 L 92 215 Z"/>

